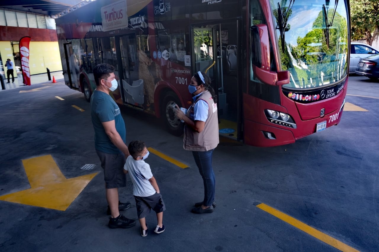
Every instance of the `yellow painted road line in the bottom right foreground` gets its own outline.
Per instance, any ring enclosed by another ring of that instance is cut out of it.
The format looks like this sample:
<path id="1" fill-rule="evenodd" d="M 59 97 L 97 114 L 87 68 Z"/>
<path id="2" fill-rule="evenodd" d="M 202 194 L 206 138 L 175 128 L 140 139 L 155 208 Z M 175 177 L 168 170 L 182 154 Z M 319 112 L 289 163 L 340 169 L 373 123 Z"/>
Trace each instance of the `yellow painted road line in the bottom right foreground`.
<path id="1" fill-rule="evenodd" d="M 291 216 L 286 215 L 285 213 L 282 213 L 272 207 L 269 207 L 266 204 L 261 203 L 257 205 L 257 207 L 262 209 L 263 211 L 268 212 L 271 215 L 274 215 L 275 217 L 281 219 L 282 221 L 285 221 L 288 224 L 291 224 L 292 226 L 304 231 L 305 233 L 312 235 L 318 240 L 321 240 L 324 243 L 327 243 L 330 246 L 335 247 L 336 249 L 339 249 L 341 251 L 346 251 L 346 252 L 352 252 L 352 251 L 359 252 L 358 250 L 346 245 L 345 243 L 342 243 L 341 241 L 338 241 L 334 239 L 333 237 L 330 237 L 329 235 L 326 235 L 323 232 L 320 232 L 317 229 L 314 229 L 313 227 L 310 227 L 307 224 L 304 224 L 303 222 L 298 221 L 297 219 L 294 219 Z"/>

